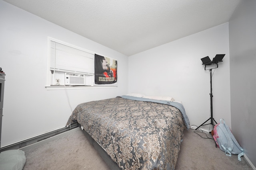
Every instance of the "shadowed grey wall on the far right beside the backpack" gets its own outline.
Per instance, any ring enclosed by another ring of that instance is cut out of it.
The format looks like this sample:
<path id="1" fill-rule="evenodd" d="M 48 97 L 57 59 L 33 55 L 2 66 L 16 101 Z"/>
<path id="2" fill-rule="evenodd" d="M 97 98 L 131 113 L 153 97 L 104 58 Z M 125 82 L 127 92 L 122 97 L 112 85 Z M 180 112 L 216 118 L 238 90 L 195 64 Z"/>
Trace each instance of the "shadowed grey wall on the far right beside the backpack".
<path id="1" fill-rule="evenodd" d="M 256 166 L 256 1 L 246 0 L 230 20 L 232 132 Z"/>

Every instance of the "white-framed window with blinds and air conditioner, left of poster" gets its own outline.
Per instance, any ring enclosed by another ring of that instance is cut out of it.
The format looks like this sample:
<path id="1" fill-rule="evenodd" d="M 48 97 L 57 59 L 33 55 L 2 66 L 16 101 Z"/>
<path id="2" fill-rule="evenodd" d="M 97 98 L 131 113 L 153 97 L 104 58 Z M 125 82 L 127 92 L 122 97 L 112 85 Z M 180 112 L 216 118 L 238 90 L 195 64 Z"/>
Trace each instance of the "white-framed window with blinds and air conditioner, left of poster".
<path id="1" fill-rule="evenodd" d="M 48 37 L 47 59 L 46 87 L 95 85 L 94 52 Z"/>

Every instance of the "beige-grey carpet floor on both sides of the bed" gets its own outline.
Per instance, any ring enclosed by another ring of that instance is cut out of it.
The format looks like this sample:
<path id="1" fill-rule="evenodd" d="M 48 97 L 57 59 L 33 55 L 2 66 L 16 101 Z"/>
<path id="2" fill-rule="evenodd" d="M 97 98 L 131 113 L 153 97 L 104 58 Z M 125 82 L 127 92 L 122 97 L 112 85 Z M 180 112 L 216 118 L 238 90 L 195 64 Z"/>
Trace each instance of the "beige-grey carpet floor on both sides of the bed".
<path id="1" fill-rule="evenodd" d="M 202 137 L 210 134 L 199 132 Z M 203 139 L 194 130 L 185 130 L 176 170 L 249 170 L 242 156 L 226 156 L 212 139 Z M 25 152 L 24 170 L 111 170 L 82 131 L 40 145 Z"/>

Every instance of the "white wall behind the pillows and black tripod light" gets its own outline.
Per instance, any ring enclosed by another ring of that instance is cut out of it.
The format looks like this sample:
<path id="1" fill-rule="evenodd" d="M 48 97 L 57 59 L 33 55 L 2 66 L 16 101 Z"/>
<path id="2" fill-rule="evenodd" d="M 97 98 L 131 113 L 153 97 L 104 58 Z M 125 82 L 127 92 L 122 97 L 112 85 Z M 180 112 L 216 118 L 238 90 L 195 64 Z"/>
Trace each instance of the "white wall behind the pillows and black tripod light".
<path id="1" fill-rule="evenodd" d="M 200 59 L 226 54 L 212 70 L 213 117 L 217 123 L 224 118 L 231 127 L 228 38 L 224 23 L 130 56 L 129 93 L 172 96 L 183 102 L 190 125 L 199 126 L 210 117 L 210 72 Z"/>

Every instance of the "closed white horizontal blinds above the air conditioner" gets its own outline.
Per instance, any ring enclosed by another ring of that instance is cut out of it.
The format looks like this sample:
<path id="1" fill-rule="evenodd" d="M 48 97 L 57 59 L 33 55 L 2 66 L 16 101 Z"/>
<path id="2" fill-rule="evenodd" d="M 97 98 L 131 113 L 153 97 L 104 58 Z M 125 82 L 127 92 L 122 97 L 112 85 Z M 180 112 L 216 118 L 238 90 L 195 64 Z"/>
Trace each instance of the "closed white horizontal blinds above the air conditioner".
<path id="1" fill-rule="evenodd" d="M 94 74 L 94 54 L 50 40 L 50 70 Z"/>

